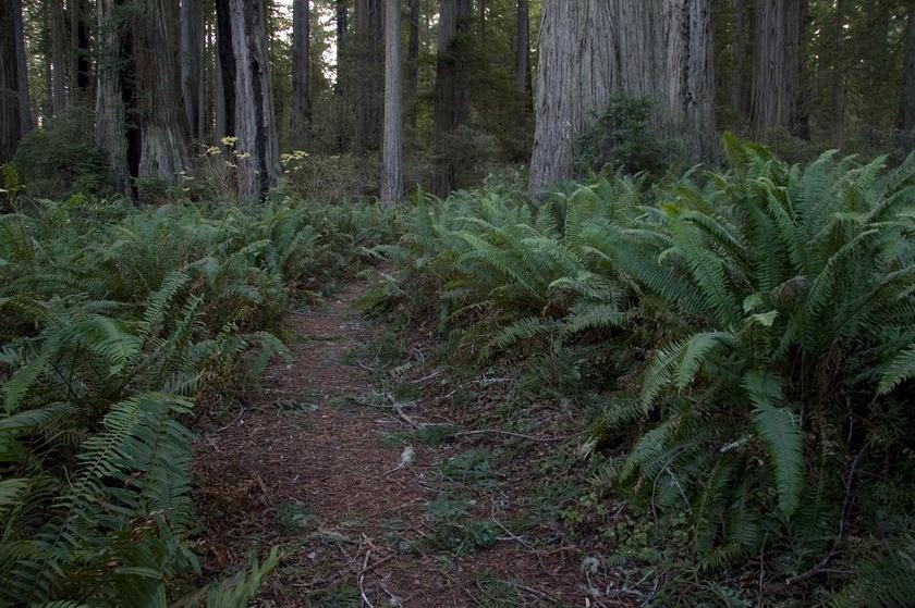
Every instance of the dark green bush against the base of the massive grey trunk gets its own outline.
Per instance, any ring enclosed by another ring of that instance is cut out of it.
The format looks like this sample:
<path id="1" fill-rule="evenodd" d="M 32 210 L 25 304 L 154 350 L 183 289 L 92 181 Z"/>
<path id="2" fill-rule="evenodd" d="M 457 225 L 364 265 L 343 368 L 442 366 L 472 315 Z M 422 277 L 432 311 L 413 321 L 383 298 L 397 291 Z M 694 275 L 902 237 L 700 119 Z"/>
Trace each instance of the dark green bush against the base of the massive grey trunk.
<path id="1" fill-rule="evenodd" d="M 651 127 L 654 102 L 615 95 L 607 110 L 575 141 L 575 164 L 582 173 L 605 166 L 626 173 L 660 175 L 676 156 L 676 141 L 663 139 Z"/>

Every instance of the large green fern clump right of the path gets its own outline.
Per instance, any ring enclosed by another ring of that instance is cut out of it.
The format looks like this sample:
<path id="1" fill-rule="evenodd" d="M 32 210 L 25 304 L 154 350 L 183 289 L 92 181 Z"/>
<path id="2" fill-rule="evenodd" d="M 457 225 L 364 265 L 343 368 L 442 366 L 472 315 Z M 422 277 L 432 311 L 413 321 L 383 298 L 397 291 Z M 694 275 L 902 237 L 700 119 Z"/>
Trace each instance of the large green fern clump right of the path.
<path id="1" fill-rule="evenodd" d="M 484 337 L 484 355 L 524 343 L 529 365 L 562 355 L 617 374 L 614 390 L 637 398 L 596 423 L 591 448 L 627 446 L 603 483 L 685 513 L 701 568 L 781 550 L 793 585 L 841 570 L 832 561 L 901 555 L 915 156 L 892 171 L 834 152 L 790 166 L 730 135 L 723 147 L 728 170 L 650 188 L 610 175 L 539 202 L 434 200 L 378 250 L 431 286 L 446 327 Z M 625 345 L 632 369 L 589 360 L 595 344 Z"/>

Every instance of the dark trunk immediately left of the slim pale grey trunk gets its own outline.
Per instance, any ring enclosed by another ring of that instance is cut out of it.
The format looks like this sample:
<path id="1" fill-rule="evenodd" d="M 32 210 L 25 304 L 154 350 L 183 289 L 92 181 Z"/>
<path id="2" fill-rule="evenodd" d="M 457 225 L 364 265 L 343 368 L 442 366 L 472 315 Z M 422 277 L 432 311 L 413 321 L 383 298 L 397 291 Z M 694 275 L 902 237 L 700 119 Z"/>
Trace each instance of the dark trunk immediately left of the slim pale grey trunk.
<path id="1" fill-rule="evenodd" d="M 356 153 L 378 150 L 381 142 L 383 76 L 382 0 L 356 0 Z"/>

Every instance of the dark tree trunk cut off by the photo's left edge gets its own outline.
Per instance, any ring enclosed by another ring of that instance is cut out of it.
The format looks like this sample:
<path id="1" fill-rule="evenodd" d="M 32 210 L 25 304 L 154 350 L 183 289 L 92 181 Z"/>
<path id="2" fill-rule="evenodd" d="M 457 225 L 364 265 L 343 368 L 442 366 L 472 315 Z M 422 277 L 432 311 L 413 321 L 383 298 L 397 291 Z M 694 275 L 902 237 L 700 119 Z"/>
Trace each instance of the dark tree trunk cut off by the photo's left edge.
<path id="1" fill-rule="evenodd" d="M 0 164 L 32 131 L 20 0 L 0 0 Z"/>

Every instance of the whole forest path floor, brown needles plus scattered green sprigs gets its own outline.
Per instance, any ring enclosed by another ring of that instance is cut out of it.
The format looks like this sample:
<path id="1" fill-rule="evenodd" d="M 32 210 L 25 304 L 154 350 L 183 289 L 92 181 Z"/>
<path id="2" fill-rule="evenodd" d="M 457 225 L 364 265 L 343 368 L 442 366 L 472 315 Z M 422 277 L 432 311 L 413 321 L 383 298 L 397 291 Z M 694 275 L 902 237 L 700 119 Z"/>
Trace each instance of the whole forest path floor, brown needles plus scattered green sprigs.
<path id="1" fill-rule="evenodd" d="M 354 303 L 366 288 L 294 313 L 291 362 L 199 433 L 205 574 L 280 546 L 259 606 L 633 605 L 582 568 L 587 541 L 532 510 L 552 498 L 533 496 L 527 457 L 551 437 L 468 429 L 440 369 L 416 372 L 408 405 L 378 382 L 382 328 Z"/>

